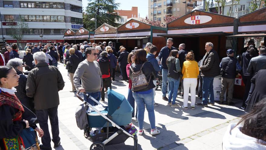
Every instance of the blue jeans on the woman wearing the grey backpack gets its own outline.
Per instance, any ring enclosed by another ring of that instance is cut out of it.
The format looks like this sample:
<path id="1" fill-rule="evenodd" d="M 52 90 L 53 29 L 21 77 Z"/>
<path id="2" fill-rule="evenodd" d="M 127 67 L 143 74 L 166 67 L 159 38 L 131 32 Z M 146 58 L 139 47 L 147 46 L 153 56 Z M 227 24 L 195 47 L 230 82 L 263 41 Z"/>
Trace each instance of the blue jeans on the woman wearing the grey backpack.
<path id="1" fill-rule="evenodd" d="M 132 92 L 133 97 L 135 98 L 136 104 L 138 106 L 138 127 L 140 130 L 143 129 L 144 122 L 144 112 L 145 105 L 148 111 L 149 121 L 151 125 L 151 129 L 155 128 L 155 115 L 154 115 L 154 99 L 153 99 L 153 90 L 148 94 L 138 94 L 136 92 Z"/>

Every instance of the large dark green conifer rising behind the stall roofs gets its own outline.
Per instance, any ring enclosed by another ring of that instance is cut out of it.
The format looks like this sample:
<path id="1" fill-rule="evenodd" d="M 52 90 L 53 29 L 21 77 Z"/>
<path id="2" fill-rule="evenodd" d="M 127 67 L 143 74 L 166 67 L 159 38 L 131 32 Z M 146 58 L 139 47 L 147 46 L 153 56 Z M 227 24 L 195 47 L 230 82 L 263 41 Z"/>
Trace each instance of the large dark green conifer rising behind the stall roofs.
<path id="1" fill-rule="evenodd" d="M 89 4 L 86 7 L 85 13 L 83 13 L 83 26 L 89 31 L 94 31 L 95 21 L 91 21 L 92 18 L 95 18 L 97 28 L 103 23 L 107 23 L 114 27 L 118 27 L 120 24 L 116 23 L 121 17 L 112 13 L 118 9 L 120 3 L 115 3 L 115 0 L 88 0 Z"/>

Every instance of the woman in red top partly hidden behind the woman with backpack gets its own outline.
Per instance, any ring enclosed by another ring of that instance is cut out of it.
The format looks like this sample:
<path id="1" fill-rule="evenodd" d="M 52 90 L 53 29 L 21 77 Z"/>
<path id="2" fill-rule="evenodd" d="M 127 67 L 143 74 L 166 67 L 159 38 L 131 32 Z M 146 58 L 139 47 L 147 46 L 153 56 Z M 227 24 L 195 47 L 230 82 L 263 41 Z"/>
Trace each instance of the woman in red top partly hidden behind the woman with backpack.
<path id="1" fill-rule="evenodd" d="M 133 112 L 132 112 L 132 118 L 135 116 L 135 121 L 138 122 L 138 107 L 136 109 L 136 115 L 135 115 L 135 99 L 132 95 L 132 91 L 131 91 L 131 87 L 132 87 L 132 81 L 129 78 L 129 71 L 130 71 L 130 66 L 131 64 L 134 62 L 135 59 L 135 52 L 131 52 L 128 54 L 128 65 L 127 65 L 127 75 L 128 75 L 128 102 L 131 105 L 131 107 L 133 108 Z"/>

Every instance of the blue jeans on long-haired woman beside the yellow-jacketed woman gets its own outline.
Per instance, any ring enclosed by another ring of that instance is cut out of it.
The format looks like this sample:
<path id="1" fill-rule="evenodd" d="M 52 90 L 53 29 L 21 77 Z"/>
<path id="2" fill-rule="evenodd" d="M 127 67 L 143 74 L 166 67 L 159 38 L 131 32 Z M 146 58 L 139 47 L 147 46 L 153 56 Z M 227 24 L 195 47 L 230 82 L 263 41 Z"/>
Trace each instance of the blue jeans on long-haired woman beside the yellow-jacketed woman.
<path id="1" fill-rule="evenodd" d="M 180 78 L 178 80 L 174 78 L 168 78 L 168 87 L 170 89 L 169 94 L 168 94 L 168 103 L 170 103 L 173 98 L 172 105 L 176 103 L 179 82 L 180 82 Z"/>

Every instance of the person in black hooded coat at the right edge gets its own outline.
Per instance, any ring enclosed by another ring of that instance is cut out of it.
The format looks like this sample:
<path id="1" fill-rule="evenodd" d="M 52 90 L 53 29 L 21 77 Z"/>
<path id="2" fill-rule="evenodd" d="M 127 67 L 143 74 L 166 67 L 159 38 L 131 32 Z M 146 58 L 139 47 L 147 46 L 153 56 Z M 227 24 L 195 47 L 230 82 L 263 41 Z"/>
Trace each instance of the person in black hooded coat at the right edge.
<path id="1" fill-rule="evenodd" d="M 250 112 L 255 103 L 259 102 L 266 96 L 266 69 L 259 70 L 256 75 L 251 78 L 251 82 L 255 84 L 255 89 L 249 101 L 246 102 L 247 106 L 245 112 Z"/>

